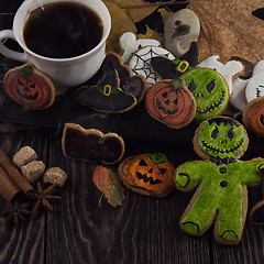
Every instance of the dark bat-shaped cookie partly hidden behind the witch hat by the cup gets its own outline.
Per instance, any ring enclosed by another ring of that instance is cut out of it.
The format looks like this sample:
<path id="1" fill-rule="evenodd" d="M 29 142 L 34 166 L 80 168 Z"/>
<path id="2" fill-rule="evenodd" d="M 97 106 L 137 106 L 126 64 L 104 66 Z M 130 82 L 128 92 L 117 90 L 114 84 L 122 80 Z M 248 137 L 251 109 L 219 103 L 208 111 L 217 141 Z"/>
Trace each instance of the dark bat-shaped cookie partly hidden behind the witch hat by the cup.
<path id="1" fill-rule="evenodd" d="M 142 75 L 133 75 L 132 69 L 123 64 L 122 58 L 117 53 L 108 53 L 102 62 L 102 69 L 114 68 L 118 70 L 120 88 L 132 96 L 140 102 L 147 88 L 147 82 Z"/>

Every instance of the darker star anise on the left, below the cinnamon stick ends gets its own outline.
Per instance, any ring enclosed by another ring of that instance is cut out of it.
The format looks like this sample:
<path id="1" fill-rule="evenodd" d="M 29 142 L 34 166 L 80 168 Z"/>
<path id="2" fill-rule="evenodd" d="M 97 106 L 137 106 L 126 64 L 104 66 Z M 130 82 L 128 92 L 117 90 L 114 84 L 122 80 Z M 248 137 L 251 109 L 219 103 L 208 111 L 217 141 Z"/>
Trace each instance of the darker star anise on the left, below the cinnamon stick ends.
<path id="1" fill-rule="evenodd" d="M 18 200 L 9 204 L 9 208 L 1 212 L 6 223 L 13 222 L 15 228 L 19 228 L 20 220 L 25 220 L 26 215 L 31 215 L 28 210 L 28 204 L 20 204 Z"/>

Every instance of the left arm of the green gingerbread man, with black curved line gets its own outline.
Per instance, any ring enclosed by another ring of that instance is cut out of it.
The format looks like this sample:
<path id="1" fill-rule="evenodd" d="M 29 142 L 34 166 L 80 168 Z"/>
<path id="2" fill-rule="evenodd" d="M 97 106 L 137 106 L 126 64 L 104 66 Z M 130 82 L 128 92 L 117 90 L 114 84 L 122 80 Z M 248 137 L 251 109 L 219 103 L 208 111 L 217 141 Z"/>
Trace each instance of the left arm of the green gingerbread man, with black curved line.
<path id="1" fill-rule="evenodd" d="M 180 190 L 191 190 L 202 179 L 202 172 L 208 169 L 208 162 L 188 162 L 178 166 L 175 170 L 175 184 Z"/>

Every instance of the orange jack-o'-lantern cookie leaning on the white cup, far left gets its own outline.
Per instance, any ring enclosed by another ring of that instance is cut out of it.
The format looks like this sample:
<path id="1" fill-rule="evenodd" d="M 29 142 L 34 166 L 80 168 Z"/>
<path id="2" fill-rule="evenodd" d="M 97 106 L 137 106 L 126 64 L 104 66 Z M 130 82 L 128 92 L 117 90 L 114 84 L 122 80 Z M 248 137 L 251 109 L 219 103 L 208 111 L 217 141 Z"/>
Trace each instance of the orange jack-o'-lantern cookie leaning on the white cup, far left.
<path id="1" fill-rule="evenodd" d="M 55 100 L 51 79 L 30 63 L 8 70 L 3 88 L 12 100 L 33 110 L 48 108 Z"/>

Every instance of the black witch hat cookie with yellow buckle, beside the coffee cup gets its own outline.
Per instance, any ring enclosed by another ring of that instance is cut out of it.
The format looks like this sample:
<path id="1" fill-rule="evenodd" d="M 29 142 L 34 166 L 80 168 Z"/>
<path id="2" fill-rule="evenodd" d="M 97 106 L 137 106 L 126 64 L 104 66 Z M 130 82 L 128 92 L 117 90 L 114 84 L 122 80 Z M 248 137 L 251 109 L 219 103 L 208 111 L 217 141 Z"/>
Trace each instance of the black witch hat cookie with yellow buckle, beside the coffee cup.
<path id="1" fill-rule="evenodd" d="M 108 68 L 96 86 L 84 86 L 77 91 L 77 100 L 101 112 L 124 112 L 136 105 L 136 98 L 120 88 L 118 70 Z"/>

